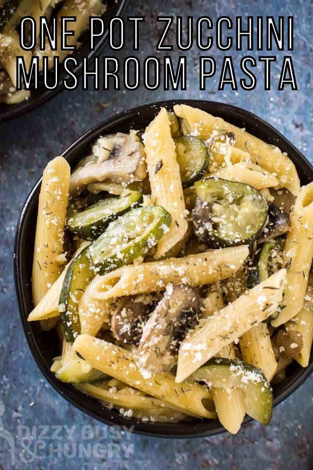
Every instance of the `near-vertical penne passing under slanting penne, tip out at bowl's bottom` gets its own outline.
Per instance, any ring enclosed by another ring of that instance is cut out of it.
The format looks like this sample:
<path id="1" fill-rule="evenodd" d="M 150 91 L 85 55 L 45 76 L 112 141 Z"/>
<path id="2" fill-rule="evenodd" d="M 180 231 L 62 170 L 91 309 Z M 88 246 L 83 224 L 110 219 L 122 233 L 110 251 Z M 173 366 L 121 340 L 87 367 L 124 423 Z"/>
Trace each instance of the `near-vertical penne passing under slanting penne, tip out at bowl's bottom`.
<path id="1" fill-rule="evenodd" d="M 210 286 L 206 298 L 203 300 L 205 310 L 202 316 L 207 318 L 223 308 L 222 292 L 214 283 Z M 233 345 L 226 346 L 217 353 L 218 357 L 236 359 Z M 245 416 L 244 394 L 239 389 L 211 387 L 216 413 L 221 424 L 231 434 L 237 434 Z"/>

